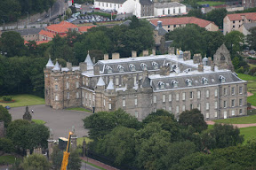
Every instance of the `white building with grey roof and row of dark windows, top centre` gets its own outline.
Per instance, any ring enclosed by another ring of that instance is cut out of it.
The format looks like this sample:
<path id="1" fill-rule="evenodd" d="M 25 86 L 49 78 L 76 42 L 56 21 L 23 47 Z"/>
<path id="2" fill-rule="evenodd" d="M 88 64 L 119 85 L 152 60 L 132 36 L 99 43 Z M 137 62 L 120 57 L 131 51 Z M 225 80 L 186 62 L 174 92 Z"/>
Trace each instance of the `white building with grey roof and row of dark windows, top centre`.
<path id="1" fill-rule="evenodd" d="M 154 4 L 154 15 L 156 17 L 168 15 L 180 15 L 186 13 L 186 5 L 180 3 L 156 3 Z"/>

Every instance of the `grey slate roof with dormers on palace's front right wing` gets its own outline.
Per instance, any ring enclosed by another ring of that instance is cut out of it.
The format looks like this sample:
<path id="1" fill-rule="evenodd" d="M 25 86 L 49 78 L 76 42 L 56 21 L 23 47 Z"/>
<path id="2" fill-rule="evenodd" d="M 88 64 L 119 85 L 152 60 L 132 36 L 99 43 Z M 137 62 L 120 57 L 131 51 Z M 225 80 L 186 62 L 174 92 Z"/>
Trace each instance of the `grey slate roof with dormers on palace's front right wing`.
<path id="1" fill-rule="evenodd" d="M 220 82 L 220 75 L 225 78 L 225 82 L 223 83 L 230 83 L 230 82 L 244 82 L 243 80 L 236 77 L 234 73 L 231 71 L 228 72 L 216 72 L 216 73 L 201 73 L 201 74 L 188 74 L 188 75 L 182 75 L 182 76 L 173 76 L 173 77 L 163 77 L 158 79 L 151 79 L 151 85 L 155 91 L 157 90 L 166 90 L 166 89 L 182 89 L 182 88 L 188 88 L 187 80 L 192 81 L 192 86 L 189 86 L 189 88 L 195 88 L 195 87 L 204 87 L 206 86 L 203 83 L 203 78 L 206 78 L 208 80 L 207 86 L 211 85 L 220 85 L 223 84 Z M 149 76 L 150 78 L 150 76 Z M 164 89 L 160 89 L 159 82 L 164 82 Z M 178 87 L 174 88 L 172 85 L 172 81 L 178 82 Z"/>

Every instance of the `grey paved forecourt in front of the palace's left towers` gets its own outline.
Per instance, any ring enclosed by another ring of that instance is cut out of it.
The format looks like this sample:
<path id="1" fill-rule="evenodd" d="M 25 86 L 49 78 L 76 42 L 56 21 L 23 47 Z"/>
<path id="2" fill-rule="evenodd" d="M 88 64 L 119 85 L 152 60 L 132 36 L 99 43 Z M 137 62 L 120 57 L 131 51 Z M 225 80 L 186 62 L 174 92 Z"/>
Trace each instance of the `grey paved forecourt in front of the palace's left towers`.
<path id="1" fill-rule="evenodd" d="M 59 137 L 68 138 L 68 132 L 75 127 L 75 134 L 77 137 L 88 135 L 88 130 L 84 129 L 83 119 L 90 116 L 90 112 L 68 111 L 68 110 L 53 110 L 45 105 L 30 105 L 28 110 L 32 115 L 33 120 L 44 120 L 45 126 L 52 128 L 53 139 L 57 140 Z M 34 113 L 31 113 L 31 110 Z M 22 119 L 26 107 L 13 107 L 9 110 L 12 114 L 12 120 Z"/>

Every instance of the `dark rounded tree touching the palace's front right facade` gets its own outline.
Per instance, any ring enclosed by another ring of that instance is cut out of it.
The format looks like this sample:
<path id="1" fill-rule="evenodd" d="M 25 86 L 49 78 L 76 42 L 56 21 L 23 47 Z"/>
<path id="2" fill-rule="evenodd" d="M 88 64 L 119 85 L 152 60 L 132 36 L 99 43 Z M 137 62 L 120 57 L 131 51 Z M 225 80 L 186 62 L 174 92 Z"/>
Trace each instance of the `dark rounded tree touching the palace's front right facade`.
<path id="1" fill-rule="evenodd" d="M 196 132 L 202 132 L 208 128 L 206 122 L 204 121 L 204 115 L 198 109 L 181 112 L 179 122 L 180 125 L 185 127 L 191 125 L 196 129 Z"/>

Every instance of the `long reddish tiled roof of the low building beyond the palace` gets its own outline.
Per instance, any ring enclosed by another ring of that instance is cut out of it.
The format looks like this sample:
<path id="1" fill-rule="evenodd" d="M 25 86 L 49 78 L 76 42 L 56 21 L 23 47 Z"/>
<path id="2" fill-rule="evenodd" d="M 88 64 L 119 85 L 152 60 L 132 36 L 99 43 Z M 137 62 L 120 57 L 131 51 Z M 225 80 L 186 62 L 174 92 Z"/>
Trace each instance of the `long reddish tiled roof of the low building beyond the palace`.
<path id="1" fill-rule="evenodd" d="M 180 25 L 180 24 L 196 24 L 199 27 L 206 27 L 210 23 L 214 24 L 214 22 L 204 19 L 198 19 L 196 17 L 180 17 L 180 18 L 166 18 L 166 19 L 152 19 L 150 22 L 157 26 L 157 21 L 161 20 L 163 26 L 167 25 Z M 215 25 L 215 24 L 214 24 Z"/>

